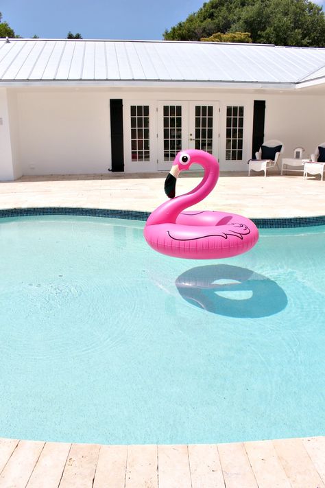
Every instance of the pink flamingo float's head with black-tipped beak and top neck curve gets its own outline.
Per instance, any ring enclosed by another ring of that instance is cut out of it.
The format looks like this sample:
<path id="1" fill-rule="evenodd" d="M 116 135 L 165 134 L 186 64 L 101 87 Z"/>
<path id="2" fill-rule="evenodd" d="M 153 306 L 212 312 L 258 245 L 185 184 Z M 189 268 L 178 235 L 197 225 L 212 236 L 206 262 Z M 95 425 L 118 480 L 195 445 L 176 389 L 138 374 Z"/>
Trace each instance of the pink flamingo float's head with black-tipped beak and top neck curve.
<path id="1" fill-rule="evenodd" d="M 173 160 L 171 170 L 165 180 L 165 194 L 169 198 L 174 198 L 176 195 L 176 179 L 181 171 L 189 170 L 190 166 L 200 164 L 206 169 L 217 171 L 219 175 L 219 163 L 212 154 L 199 149 L 187 149 L 178 152 L 176 158 Z"/>

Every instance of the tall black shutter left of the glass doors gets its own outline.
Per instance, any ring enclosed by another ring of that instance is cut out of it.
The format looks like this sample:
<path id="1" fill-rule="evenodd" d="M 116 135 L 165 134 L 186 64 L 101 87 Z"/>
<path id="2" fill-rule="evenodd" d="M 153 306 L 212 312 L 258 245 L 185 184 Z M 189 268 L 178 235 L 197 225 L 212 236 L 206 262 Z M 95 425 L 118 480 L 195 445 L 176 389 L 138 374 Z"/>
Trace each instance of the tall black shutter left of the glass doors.
<path id="1" fill-rule="evenodd" d="M 110 100 L 110 139 L 112 147 L 112 171 L 124 171 L 123 100 Z"/>

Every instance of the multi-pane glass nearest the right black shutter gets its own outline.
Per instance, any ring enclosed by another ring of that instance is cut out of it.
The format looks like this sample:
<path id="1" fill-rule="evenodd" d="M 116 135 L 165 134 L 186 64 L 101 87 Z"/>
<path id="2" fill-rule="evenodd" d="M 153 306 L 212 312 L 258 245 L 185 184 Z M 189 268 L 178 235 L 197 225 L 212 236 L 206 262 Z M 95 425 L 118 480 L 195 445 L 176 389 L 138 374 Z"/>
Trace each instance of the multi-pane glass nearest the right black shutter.
<path id="1" fill-rule="evenodd" d="M 243 106 L 228 106 L 226 119 L 226 161 L 243 159 Z"/>

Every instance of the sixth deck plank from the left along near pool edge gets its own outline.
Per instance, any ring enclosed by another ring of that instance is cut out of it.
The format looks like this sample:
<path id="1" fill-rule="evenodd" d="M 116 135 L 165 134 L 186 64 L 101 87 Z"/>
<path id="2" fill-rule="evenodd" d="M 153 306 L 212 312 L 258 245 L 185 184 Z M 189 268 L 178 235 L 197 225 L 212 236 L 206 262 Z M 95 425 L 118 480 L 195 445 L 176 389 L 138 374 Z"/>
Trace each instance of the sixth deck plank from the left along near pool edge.
<path id="1" fill-rule="evenodd" d="M 156 445 L 129 445 L 125 488 L 158 488 Z"/>

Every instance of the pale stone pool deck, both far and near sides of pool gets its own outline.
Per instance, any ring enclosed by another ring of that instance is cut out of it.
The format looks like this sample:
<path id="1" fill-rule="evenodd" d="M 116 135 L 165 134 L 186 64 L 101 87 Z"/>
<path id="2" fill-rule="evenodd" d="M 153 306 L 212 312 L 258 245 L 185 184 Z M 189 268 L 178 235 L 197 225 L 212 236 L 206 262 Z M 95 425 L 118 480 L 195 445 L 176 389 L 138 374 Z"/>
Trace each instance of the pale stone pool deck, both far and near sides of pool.
<path id="1" fill-rule="evenodd" d="M 166 174 L 24 176 L 0 183 L 0 209 L 152 211 L 166 199 Z M 178 179 L 177 194 L 200 181 L 199 174 L 184 176 Z M 319 176 L 303 180 L 298 174 L 248 178 L 247 173 L 225 173 L 196 208 L 250 218 L 324 216 L 324 197 L 325 181 Z M 325 488 L 325 437 L 129 446 L 0 439 L 0 488 L 138 487 Z"/>

